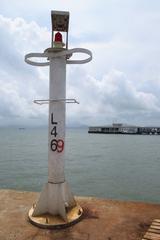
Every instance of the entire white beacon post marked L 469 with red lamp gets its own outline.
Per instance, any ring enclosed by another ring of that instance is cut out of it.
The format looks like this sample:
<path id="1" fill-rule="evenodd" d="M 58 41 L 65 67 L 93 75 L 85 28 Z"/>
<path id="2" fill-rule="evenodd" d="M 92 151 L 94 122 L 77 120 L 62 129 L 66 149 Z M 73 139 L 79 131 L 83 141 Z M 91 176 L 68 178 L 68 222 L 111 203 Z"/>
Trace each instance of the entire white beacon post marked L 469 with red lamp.
<path id="1" fill-rule="evenodd" d="M 29 53 L 25 62 L 33 66 L 49 66 L 49 99 L 35 100 L 38 104 L 49 104 L 48 126 L 48 182 L 36 204 L 29 211 L 29 220 L 42 228 L 66 227 L 80 220 L 83 210 L 76 203 L 69 185 L 65 181 L 65 115 L 66 103 L 78 103 L 66 99 L 66 64 L 83 64 L 92 60 L 92 53 L 83 48 L 68 49 L 69 12 L 51 11 L 51 48 L 44 53 Z M 66 34 L 66 43 L 62 34 Z M 87 54 L 83 60 L 71 60 L 74 53 Z M 35 61 L 46 58 L 46 62 Z"/>

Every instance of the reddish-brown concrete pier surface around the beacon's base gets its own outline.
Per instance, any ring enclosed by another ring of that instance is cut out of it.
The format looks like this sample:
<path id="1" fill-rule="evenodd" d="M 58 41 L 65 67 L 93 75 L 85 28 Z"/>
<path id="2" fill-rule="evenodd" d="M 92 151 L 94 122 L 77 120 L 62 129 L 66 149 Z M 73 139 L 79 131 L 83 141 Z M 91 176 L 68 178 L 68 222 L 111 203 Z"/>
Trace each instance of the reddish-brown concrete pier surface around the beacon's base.
<path id="1" fill-rule="evenodd" d="M 160 205 L 77 197 L 82 220 L 66 229 L 47 230 L 28 221 L 39 193 L 0 190 L 0 240 L 141 240 Z"/>

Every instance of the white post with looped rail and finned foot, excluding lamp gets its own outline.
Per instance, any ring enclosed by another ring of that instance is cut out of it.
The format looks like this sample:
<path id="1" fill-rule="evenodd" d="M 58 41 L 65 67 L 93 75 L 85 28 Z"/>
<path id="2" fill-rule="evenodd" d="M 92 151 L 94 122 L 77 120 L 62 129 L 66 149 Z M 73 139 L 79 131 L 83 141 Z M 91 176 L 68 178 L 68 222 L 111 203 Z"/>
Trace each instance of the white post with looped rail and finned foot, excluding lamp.
<path id="1" fill-rule="evenodd" d="M 89 55 L 83 60 L 70 60 L 73 53 Z M 31 58 L 47 57 L 47 62 L 36 62 Z M 48 126 L 48 183 L 45 184 L 38 202 L 33 208 L 32 217 L 42 214 L 61 216 L 68 222 L 68 210 L 76 207 L 76 201 L 65 181 L 65 115 L 66 115 L 66 64 L 83 64 L 91 61 L 92 53 L 83 48 L 71 50 L 46 49 L 44 53 L 29 53 L 25 61 L 33 66 L 50 66 L 49 77 L 49 126 Z M 41 101 L 41 100 L 40 100 Z M 76 218 L 80 208 L 76 207 Z M 78 211 L 78 212 L 77 212 Z M 36 221 L 35 221 L 36 222 Z"/>

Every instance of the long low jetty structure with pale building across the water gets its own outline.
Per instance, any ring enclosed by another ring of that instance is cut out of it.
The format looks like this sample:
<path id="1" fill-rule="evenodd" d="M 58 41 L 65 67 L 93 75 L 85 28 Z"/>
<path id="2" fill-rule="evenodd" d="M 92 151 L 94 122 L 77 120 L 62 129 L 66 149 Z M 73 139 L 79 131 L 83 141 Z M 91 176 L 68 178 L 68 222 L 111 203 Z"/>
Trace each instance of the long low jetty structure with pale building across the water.
<path id="1" fill-rule="evenodd" d="M 160 127 L 141 127 L 122 123 L 113 123 L 112 125 L 89 127 L 88 133 L 160 135 Z"/>

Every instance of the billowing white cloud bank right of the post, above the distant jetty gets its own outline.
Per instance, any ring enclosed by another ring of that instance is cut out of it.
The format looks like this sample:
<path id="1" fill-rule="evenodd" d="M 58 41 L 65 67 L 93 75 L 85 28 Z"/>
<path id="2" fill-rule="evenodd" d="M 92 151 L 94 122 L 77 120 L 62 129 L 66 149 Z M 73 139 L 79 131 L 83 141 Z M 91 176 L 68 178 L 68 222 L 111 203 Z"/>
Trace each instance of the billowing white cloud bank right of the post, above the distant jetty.
<path id="1" fill-rule="evenodd" d="M 117 119 L 148 124 L 153 121 L 150 114 L 160 116 L 159 98 L 151 92 L 136 89 L 124 73 L 112 70 L 97 80 L 86 73 L 79 77 L 78 70 L 72 73 L 71 79 L 75 82 L 71 83 L 69 92 L 77 94 L 81 105 L 74 106 L 74 111 L 72 108 L 69 113 L 81 124 L 105 124 Z"/>

